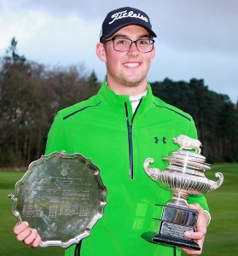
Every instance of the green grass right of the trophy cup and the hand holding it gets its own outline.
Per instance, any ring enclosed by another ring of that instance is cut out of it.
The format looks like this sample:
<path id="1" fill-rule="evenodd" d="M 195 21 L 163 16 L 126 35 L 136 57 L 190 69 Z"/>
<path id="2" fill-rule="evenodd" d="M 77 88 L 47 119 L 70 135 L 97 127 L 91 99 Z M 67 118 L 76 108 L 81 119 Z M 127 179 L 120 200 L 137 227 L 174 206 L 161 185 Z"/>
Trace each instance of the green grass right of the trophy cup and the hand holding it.
<path id="1" fill-rule="evenodd" d="M 222 172 L 222 186 L 206 194 L 212 221 L 208 227 L 204 246 L 204 256 L 238 255 L 238 164 L 220 164 L 212 166 L 206 177 L 217 180 L 215 172 Z"/>

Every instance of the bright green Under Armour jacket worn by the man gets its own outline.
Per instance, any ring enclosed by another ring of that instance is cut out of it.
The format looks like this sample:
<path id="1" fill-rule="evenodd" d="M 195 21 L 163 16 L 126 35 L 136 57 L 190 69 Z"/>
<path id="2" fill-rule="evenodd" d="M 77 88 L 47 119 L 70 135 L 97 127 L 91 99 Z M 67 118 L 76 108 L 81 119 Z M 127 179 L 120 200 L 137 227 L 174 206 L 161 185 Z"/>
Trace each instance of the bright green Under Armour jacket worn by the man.
<path id="1" fill-rule="evenodd" d="M 61 110 L 49 131 L 46 154 L 66 150 L 91 159 L 101 170 L 107 187 L 103 217 L 84 239 L 81 256 L 170 256 L 173 248 L 154 245 L 141 238 L 148 230 L 159 229 L 152 218 L 160 218 L 155 203 L 170 201 L 171 193 L 161 189 L 143 170 L 143 162 L 154 158 L 164 170 L 162 156 L 178 149 L 172 142 L 180 134 L 197 137 L 188 113 L 148 94 L 132 114 L 129 96 L 118 96 L 102 84 L 96 96 Z M 191 196 L 208 210 L 203 195 Z M 74 245 L 66 255 L 73 255 Z M 177 255 L 180 255 L 177 250 Z"/>

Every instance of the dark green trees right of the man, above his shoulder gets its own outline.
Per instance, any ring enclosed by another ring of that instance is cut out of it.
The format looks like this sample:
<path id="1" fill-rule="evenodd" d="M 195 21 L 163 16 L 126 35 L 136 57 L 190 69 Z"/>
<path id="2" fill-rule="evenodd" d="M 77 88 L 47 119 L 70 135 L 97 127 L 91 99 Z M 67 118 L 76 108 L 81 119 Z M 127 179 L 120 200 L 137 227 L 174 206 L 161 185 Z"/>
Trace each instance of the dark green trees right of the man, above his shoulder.
<path id="1" fill-rule="evenodd" d="M 155 96 L 192 115 L 206 160 L 238 161 L 238 110 L 229 96 L 209 90 L 203 79 L 165 79 L 152 88 Z"/>

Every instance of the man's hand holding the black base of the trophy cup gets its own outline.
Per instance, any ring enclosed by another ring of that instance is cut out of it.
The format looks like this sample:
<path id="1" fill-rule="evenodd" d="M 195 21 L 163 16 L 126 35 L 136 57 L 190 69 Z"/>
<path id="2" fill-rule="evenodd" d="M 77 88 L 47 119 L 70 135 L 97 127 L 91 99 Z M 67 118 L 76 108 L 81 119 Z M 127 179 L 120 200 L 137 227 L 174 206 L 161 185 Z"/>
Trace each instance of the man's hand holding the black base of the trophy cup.
<path id="1" fill-rule="evenodd" d="M 184 233 L 184 235 L 191 239 L 194 239 L 194 241 L 199 244 L 200 251 L 194 251 L 194 250 L 189 250 L 185 248 L 182 248 L 182 250 L 189 255 L 200 255 L 202 253 L 202 247 L 203 247 L 203 243 L 206 236 L 206 226 L 209 222 L 210 217 L 207 214 L 207 212 L 205 212 L 203 208 L 200 207 L 199 204 L 189 205 L 189 208 L 193 208 L 197 212 L 199 212 L 198 221 L 197 221 L 197 231 L 196 232 L 187 231 Z"/>

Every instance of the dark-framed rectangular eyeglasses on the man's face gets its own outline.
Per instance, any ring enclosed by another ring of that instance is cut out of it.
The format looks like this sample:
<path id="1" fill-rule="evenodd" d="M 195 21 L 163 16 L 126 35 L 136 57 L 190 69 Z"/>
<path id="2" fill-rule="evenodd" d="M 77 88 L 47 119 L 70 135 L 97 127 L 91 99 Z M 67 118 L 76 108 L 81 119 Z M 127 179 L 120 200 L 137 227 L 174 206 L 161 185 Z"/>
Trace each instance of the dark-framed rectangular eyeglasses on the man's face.
<path id="1" fill-rule="evenodd" d="M 149 38 L 137 39 L 136 41 L 132 41 L 129 38 L 111 38 L 105 40 L 104 43 L 109 41 L 113 41 L 113 48 L 117 51 L 127 51 L 131 49 L 131 45 L 133 43 L 136 44 L 136 48 L 141 52 L 150 52 L 154 48 L 154 40 Z"/>

